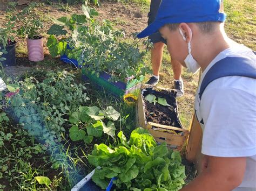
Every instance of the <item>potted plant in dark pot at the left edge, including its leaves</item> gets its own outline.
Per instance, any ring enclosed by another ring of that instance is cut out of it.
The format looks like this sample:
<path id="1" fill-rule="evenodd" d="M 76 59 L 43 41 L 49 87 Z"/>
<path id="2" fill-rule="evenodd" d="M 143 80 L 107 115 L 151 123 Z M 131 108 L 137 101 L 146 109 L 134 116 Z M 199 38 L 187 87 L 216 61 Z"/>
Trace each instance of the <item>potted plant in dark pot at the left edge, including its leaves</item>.
<path id="1" fill-rule="evenodd" d="M 0 27 L 0 51 L 2 52 L 3 66 L 15 66 L 16 64 L 16 41 L 12 35 L 13 27 L 14 23 L 11 22 L 8 22 L 3 28 Z"/>

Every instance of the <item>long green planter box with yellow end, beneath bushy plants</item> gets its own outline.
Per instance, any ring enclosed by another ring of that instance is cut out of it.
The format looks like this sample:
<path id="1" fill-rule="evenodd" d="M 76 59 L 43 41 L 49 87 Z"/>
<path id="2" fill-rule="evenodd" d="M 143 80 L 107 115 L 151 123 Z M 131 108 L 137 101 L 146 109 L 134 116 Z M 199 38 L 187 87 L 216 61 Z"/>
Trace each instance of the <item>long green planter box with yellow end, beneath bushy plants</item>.
<path id="1" fill-rule="evenodd" d="M 129 78 L 126 82 L 111 82 L 110 79 L 111 75 L 106 72 L 101 72 L 99 77 L 97 77 L 95 74 L 91 74 L 86 67 L 82 68 L 82 80 L 91 80 L 98 87 L 103 87 L 105 90 L 109 91 L 109 93 L 117 97 L 122 97 L 139 89 L 141 82 L 144 80 L 144 76 L 141 76 L 139 80 Z"/>

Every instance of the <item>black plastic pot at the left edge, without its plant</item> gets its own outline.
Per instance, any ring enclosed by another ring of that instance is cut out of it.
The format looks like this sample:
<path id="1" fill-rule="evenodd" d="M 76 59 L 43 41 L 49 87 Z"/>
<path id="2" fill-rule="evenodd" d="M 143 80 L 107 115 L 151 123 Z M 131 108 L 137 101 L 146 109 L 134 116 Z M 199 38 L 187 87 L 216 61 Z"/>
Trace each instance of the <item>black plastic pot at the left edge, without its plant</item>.
<path id="1" fill-rule="evenodd" d="M 3 49 L 3 45 L 0 45 L 0 49 Z M 6 60 L 2 61 L 2 65 L 6 66 L 15 66 L 16 65 L 16 41 L 14 44 L 8 45 L 5 47 L 7 54 L 3 54 L 2 57 L 6 58 Z"/>

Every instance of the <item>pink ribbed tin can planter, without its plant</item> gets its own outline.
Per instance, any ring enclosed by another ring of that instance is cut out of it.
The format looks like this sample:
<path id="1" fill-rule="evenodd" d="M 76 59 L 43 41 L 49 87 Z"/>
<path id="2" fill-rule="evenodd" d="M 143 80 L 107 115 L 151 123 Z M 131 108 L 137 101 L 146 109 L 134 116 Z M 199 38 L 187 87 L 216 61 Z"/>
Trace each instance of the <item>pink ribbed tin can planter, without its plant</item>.
<path id="1" fill-rule="evenodd" d="M 43 37 L 38 36 L 38 39 L 26 38 L 28 46 L 29 60 L 38 62 L 44 60 L 44 42 Z"/>

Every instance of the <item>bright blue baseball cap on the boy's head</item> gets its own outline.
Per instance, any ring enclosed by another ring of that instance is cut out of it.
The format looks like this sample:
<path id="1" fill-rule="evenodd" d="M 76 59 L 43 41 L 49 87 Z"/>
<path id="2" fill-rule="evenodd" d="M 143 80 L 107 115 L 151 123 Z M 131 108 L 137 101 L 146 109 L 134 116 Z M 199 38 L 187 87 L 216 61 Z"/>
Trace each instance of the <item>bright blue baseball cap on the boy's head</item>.
<path id="1" fill-rule="evenodd" d="M 226 14 L 219 12 L 223 0 L 162 0 L 156 19 L 140 32 L 144 38 L 171 23 L 225 22 Z"/>

